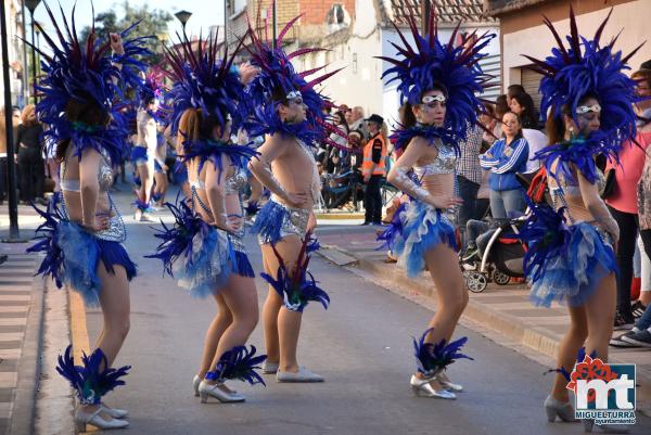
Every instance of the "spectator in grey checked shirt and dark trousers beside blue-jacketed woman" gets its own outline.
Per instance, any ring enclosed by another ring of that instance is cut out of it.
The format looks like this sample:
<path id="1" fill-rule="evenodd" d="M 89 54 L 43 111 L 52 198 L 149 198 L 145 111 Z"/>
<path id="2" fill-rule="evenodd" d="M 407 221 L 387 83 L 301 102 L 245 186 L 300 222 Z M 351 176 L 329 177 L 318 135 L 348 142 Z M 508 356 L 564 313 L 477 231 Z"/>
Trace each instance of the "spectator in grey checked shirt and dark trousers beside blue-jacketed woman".
<path id="1" fill-rule="evenodd" d="M 465 241 L 465 223 L 470 219 L 481 219 L 482 210 L 478 209 L 476 200 L 482 184 L 482 166 L 480 165 L 480 149 L 484 130 L 480 126 L 468 129 L 467 140 L 460 143 L 461 155 L 457 159 L 456 174 L 459 197 L 463 203 L 458 208 L 457 225 L 461 231 L 462 245 Z"/>

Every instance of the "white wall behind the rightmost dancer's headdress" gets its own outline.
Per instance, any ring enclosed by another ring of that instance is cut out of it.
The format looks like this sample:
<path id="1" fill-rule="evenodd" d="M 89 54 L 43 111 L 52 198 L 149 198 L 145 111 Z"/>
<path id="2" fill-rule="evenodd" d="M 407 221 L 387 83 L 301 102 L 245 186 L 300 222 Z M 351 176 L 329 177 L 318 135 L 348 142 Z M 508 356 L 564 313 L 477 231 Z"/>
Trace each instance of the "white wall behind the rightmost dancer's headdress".
<path id="1" fill-rule="evenodd" d="M 579 34 L 591 38 L 605 18 L 609 8 L 577 16 Z M 608 22 L 601 40 L 608 42 L 622 30 L 615 42 L 615 49 L 628 54 L 642 41 L 649 39 L 649 20 L 651 18 L 651 0 L 637 0 L 614 7 L 613 14 Z M 554 27 L 564 38 L 570 34 L 570 18 L 554 22 Z M 564 39 L 563 39 L 564 40 Z M 533 57 L 545 59 L 551 48 L 556 47 L 551 31 L 542 25 L 524 30 L 506 34 L 503 37 L 503 80 L 505 89 L 511 84 L 520 82 L 520 67 L 528 65 L 529 61 L 522 56 L 528 54 Z M 636 71 L 644 61 L 651 60 L 651 43 L 646 43 L 629 61 L 633 71 Z"/>

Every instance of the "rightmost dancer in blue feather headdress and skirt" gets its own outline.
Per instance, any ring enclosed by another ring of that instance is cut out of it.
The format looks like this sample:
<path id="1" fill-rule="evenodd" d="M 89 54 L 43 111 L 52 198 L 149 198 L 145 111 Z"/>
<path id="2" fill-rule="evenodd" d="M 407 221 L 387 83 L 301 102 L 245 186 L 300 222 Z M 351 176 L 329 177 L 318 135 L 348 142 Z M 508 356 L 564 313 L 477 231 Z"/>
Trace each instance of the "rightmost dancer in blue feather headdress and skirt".
<path id="1" fill-rule="evenodd" d="M 559 46 L 545 61 L 529 57 L 542 74 L 541 112 L 550 108 L 550 145 L 536 156 L 547 169 L 553 208 L 531 205 L 532 215 L 520 234 L 528 245 L 524 271 L 534 304 L 567 304 L 571 318 L 559 348 L 559 374 L 545 400 L 549 421 L 557 417 L 574 421 L 561 372 L 572 371 L 584 345 L 587 354 L 608 360 L 615 315 L 613 246 L 620 228 L 599 196 L 603 180 L 595 158 L 602 155 L 616 161 L 622 142 L 635 137 L 633 103 L 637 99 L 635 82 L 623 73 L 629 56 L 613 50 L 614 40 L 605 46 L 600 42 L 609 17 L 590 40 L 578 35 L 571 9 L 569 47 L 545 18 Z M 592 421 L 584 424 L 590 432 Z M 604 432 L 613 428 L 599 427 Z"/>

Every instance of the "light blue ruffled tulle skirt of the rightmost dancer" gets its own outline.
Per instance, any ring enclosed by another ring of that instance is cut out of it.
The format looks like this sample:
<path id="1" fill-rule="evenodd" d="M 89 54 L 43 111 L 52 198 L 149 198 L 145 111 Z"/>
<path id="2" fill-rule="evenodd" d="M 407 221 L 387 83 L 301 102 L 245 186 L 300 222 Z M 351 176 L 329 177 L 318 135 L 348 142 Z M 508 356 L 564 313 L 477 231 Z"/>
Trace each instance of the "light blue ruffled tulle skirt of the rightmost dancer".
<path id="1" fill-rule="evenodd" d="M 615 253 L 597 228 L 588 222 L 569 227 L 570 240 L 551 258 L 545 258 L 545 271 L 532 284 L 531 299 L 549 307 L 553 300 L 579 306 L 592 296 L 599 283 L 616 272 Z M 532 268 L 535 272 L 535 266 Z M 529 276 L 533 273 L 529 273 Z"/>

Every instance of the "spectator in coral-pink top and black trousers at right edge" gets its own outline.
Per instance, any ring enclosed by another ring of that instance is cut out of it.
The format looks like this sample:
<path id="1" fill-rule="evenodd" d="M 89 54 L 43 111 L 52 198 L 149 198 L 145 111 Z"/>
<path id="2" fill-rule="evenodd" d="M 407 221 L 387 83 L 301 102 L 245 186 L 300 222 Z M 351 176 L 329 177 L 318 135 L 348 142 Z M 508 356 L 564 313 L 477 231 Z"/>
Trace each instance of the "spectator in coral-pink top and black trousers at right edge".
<path id="1" fill-rule="evenodd" d="M 651 84 L 651 71 L 639 71 L 633 75 L 634 79 L 639 80 L 636 87 L 637 92 L 641 97 L 651 95 L 649 85 Z M 651 120 L 651 101 L 641 101 L 636 104 L 637 114 L 642 118 L 650 118 Z M 630 329 L 634 324 L 633 310 L 630 306 L 630 283 L 633 281 L 633 255 L 635 253 L 635 246 L 638 236 L 638 201 L 644 213 L 644 203 L 651 191 L 644 192 L 643 184 L 650 181 L 641 181 L 641 194 L 638 197 L 638 183 L 642 178 L 644 162 L 649 159 L 646 151 L 651 144 L 651 128 L 646 127 L 642 121 L 638 123 L 638 133 L 636 137 L 636 145 L 631 142 L 627 142 L 622 146 L 620 151 L 620 164 L 609 163 L 607 167 L 607 174 L 609 170 L 615 171 L 615 181 L 612 193 L 605 199 L 605 203 L 609 206 L 611 215 L 617 221 L 620 227 L 620 241 L 617 243 L 617 268 L 620 273 L 617 274 L 617 312 L 615 316 L 615 330 Z M 649 165 L 647 165 L 649 166 Z M 649 177 L 647 177 L 648 179 Z M 649 207 L 647 205 L 647 207 Z M 648 213 L 648 212 L 647 212 Z M 642 215 L 646 220 L 646 227 L 651 229 L 646 214 Z M 649 233 L 648 231 L 647 233 Z M 642 235 L 642 240 L 649 235 Z M 651 252 L 651 240 L 647 242 L 647 252 Z"/>

